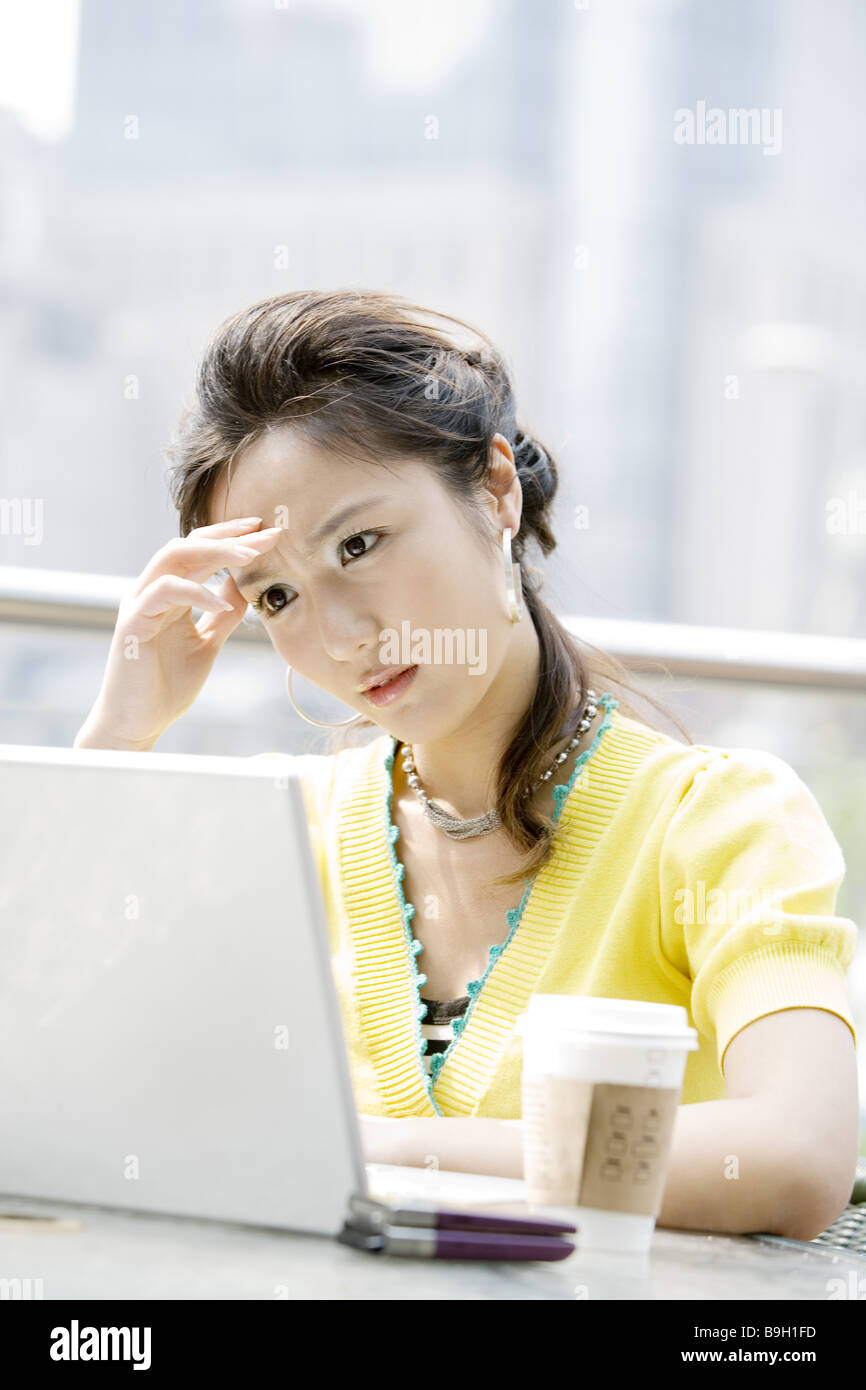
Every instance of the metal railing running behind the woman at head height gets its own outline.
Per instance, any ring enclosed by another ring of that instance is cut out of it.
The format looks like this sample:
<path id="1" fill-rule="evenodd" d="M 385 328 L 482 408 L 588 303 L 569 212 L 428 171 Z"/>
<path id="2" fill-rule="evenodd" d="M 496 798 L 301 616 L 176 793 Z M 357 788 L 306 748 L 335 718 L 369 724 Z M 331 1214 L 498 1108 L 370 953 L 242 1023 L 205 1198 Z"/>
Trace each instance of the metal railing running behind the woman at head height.
<path id="1" fill-rule="evenodd" d="M 113 574 L 0 566 L 0 623 L 113 631 L 133 582 Z M 560 620 L 581 642 L 610 652 L 634 671 L 866 691 L 863 638 L 574 614 Z M 268 641 L 261 623 L 249 616 L 232 632 L 235 639 Z"/>

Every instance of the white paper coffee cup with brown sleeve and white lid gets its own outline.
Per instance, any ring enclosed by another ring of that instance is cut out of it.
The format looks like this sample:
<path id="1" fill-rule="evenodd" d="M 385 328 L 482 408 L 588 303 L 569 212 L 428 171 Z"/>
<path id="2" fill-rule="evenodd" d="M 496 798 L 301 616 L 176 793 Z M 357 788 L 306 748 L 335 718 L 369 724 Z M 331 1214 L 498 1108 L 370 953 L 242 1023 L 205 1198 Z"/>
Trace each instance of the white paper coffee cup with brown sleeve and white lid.
<path id="1" fill-rule="evenodd" d="M 698 1047 L 688 1012 L 534 994 L 516 1029 L 530 1204 L 564 1208 L 578 1250 L 648 1250 L 687 1052 Z"/>

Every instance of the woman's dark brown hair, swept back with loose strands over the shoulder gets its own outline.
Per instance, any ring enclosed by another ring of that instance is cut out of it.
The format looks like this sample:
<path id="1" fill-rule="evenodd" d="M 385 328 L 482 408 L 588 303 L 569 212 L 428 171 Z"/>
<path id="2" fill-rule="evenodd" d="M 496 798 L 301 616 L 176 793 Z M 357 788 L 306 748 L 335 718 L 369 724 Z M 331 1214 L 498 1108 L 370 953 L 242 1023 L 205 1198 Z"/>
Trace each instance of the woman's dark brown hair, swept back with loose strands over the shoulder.
<path id="1" fill-rule="evenodd" d="M 368 289 L 295 291 L 234 314 L 211 336 L 195 400 L 185 406 L 165 450 L 181 535 L 209 524 L 213 489 L 227 471 L 231 481 L 232 460 L 268 430 L 288 424 L 313 443 L 356 460 L 384 467 L 407 455 L 424 460 L 499 550 L 500 537 L 481 496 L 493 435 L 512 445 L 523 488 L 512 559 L 520 564 L 544 678 L 498 780 L 499 816 L 512 842 L 525 851 L 524 867 L 496 883 L 523 881 L 552 852 L 556 827 L 523 788 L 546 770 L 549 749 L 566 726 L 573 733 L 592 682 L 599 696 L 601 682 L 612 691 L 623 714 L 655 727 L 621 692 L 648 701 L 692 742 L 670 710 L 630 684 L 616 657 L 578 642 L 541 598 L 542 571 L 528 563 L 525 550 L 530 539 L 545 556 L 556 546 L 550 512 L 557 467 L 550 450 L 517 425 L 510 370 L 485 334 L 402 295 Z M 594 653 L 592 669 L 581 648 Z M 332 748 L 349 745 L 354 730 L 377 727 L 364 716 L 352 730 L 329 735 Z"/>

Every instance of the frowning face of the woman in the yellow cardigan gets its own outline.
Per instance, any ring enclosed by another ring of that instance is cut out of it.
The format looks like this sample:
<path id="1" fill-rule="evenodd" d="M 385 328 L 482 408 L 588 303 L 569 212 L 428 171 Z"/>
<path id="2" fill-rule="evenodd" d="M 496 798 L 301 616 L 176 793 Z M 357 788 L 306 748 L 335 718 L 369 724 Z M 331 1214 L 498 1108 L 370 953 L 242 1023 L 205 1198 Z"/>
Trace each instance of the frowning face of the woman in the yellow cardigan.
<path id="1" fill-rule="evenodd" d="M 520 484 L 488 493 L 491 521 L 517 531 Z M 284 662 L 409 742 L 446 737 L 484 702 L 514 627 L 502 550 L 491 549 L 435 473 L 414 459 L 348 461 L 291 430 L 272 431 L 232 466 L 210 521 L 260 516 L 284 530 L 261 556 L 229 569 Z M 385 706 L 360 691 L 375 669 L 416 663 Z"/>

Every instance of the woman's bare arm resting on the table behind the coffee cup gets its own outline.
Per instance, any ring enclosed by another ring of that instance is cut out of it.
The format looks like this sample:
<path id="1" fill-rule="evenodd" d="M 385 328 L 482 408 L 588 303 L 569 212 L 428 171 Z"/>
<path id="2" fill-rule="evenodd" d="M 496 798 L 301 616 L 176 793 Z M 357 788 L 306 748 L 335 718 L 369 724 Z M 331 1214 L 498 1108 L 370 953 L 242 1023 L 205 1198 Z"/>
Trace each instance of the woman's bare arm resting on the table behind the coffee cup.
<path id="1" fill-rule="evenodd" d="M 851 1198 L 858 1076 L 848 1026 L 781 1009 L 727 1049 L 728 1098 L 680 1105 L 659 1226 L 813 1240 Z M 803 1123 L 806 1109 L 810 1120 Z M 523 1122 L 361 1116 L 368 1161 L 523 1177 Z"/>

